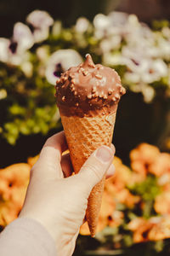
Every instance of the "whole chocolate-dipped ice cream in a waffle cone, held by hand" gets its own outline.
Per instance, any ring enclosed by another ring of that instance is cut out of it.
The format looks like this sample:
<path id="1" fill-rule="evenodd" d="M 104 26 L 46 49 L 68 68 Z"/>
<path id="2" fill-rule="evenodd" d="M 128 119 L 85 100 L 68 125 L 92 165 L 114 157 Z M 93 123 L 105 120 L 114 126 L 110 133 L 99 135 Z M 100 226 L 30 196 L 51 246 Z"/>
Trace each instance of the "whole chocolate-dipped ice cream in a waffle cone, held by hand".
<path id="1" fill-rule="evenodd" d="M 124 93 L 118 74 L 109 67 L 95 66 L 90 55 L 61 76 L 56 97 L 76 173 L 96 148 L 111 145 L 117 103 Z M 86 217 L 91 236 L 97 228 L 104 183 L 105 177 L 88 198 Z"/>

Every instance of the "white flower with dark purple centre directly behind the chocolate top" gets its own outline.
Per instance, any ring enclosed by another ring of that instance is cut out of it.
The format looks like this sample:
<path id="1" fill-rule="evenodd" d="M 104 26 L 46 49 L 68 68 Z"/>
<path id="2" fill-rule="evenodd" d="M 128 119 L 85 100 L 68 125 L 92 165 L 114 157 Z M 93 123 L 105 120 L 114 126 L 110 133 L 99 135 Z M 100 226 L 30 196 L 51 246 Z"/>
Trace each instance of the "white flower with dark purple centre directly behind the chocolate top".
<path id="1" fill-rule="evenodd" d="M 82 56 L 75 49 L 59 49 L 52 54 L 46 68 L 46 78 L 49 84 L 56 84 L 60 74 L 72 66 L 82 62 Z"/>

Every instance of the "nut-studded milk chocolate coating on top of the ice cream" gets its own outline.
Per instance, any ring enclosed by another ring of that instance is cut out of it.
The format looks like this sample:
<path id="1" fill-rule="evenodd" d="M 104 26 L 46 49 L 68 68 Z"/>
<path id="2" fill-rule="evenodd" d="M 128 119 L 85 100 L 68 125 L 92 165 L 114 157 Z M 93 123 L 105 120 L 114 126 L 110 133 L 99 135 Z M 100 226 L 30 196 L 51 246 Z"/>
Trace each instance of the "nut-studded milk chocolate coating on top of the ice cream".
<path id="1" fill-rule="evenodd" d="M 63 73 L 56 84 L 59 111 L 65 115 L 94 116 L 99 110 L 116 111 L 126 90 L 114 69 L 94 65 L 91 55 L 77 67 Z"/>

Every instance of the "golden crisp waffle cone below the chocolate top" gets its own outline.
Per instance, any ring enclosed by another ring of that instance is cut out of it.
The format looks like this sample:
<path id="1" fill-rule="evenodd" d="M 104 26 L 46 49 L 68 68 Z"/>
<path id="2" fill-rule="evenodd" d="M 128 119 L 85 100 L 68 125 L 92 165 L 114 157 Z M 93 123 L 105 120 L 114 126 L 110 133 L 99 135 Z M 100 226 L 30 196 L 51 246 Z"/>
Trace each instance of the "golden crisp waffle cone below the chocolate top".
<path id="1" fill-rule="evenodd" d="M 80 171 L 90 154 L 101 145 L 111 145 L 115 125 L 116 112 L 100 113 L 94 117 L 65 116 L 61 114 L 61 121 L 65 130 L 65 137 L 71 154 L 74 171 Z M 86 218 L 91 236 L 95 236 L 99 209 L 102 201 L 105 177 L 94 186 L 88 198 Z"/>

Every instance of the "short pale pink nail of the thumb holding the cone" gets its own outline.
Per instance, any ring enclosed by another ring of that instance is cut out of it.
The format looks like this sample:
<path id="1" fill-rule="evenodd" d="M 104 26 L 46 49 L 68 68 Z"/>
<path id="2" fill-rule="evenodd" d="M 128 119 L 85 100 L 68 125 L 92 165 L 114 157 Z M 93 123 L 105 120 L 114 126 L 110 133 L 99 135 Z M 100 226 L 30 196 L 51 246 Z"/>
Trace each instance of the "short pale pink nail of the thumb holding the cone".
<path id="1" fill-rule="evenodd" d="M 96 157 L 102 162 L 110 162 L 113 158 L 113 151 L 107 146 L 102 146 L 97 149 Z"/>

